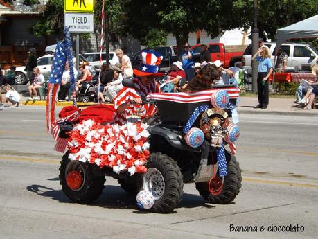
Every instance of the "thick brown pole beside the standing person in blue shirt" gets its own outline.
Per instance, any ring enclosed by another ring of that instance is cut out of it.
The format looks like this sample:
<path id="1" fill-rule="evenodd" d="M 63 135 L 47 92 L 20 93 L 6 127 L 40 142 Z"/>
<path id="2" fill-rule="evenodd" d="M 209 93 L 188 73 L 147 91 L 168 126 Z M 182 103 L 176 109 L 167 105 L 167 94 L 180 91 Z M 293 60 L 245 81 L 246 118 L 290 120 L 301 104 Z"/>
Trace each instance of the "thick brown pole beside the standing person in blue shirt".
<path id="1" fill-rule="evenodd" d="M 253 56 L 256 51 L 258 51 L 258 37 L 259 37 L 259 30 L 257 28 L 257 0 L 254 0 L 253 3 L 254 9 L 254 19 L 253 19 L 253 29 L 251 30 L 251 55 Z M 253 92 L 257 92 L 257 73 L 258 73 L 258 64 L 255 60 L 251 61 L 251 79 L 252 79 L 252 89 Z"/>

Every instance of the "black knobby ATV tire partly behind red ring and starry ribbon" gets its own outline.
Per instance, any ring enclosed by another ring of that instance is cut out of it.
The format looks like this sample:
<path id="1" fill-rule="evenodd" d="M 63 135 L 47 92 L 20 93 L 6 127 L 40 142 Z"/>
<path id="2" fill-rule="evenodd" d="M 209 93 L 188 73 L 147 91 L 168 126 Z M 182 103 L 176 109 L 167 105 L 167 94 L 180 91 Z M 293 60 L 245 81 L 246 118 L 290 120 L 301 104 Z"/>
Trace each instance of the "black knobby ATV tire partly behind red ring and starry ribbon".
<path id="1" fill-rule="evenodd" d="M 195 184 L 195 188 L 199 191 L 204 200 L 213 204 L 229 204 L 236 195 L 240 193 L 242 186 L 242 175 L 238 161 L 229 152 L 225 153 L 227 157 L 227 176 L 224 177 L 224 186 L 219 195 L 213 195 L 209 191 L 209 182 L 200 182 Z"/>

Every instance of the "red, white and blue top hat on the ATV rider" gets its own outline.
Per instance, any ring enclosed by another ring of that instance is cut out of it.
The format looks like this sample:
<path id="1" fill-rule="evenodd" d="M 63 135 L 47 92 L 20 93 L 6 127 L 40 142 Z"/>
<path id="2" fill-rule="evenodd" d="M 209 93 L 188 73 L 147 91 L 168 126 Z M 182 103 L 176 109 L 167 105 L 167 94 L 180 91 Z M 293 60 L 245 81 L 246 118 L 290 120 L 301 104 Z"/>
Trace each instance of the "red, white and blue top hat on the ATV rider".
<path id="1" fill-rule="evenodd" d="M 139 69 L 134 69 L 136 76 L 164 76 L 164 73 L 159 73 L 159 64 L 162 60 L 162 55 L 153 51 L 141 51 L 141 65 Z"/>

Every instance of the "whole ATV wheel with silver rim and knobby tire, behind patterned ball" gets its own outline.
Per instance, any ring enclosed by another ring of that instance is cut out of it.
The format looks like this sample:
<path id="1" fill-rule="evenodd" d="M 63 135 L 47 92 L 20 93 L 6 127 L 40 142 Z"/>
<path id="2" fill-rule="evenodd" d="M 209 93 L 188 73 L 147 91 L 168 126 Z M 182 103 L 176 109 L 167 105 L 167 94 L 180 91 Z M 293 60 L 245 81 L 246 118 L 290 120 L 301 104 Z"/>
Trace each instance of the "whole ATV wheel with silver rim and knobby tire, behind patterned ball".
<path id="1" fill-rule="evenodd" d="M 181 201 L 184 182 L 177 163 L 166 154 L 152 153 L 145 164 L 143 189 L 154 195 L 154 213 L 170 213 Z"/>

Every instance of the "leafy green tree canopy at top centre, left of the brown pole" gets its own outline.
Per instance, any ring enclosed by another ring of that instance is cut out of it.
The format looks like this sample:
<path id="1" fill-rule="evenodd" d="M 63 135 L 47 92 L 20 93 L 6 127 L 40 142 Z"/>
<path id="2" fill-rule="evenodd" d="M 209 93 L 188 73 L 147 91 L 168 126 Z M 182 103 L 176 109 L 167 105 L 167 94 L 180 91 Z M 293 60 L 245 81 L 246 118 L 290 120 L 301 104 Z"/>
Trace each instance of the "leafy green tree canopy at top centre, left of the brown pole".
<path id="1" fill-rule="evenodd" d="M 152 0 L 124 1 L 125 18 L 122 34 L 131 34 L 141 44 L 150 45 L 149 39 L 156 29 L 161 33 L 172 33 L 177 40 L 179 52 L 188 42 L 188 35 L 197 29 L 205 29 L 212 37 L 236 27 L 245 26 L 245 6 L 237 1 L 202 0 Z M 233 17 L 239 16 L 239 17 Z M 166 35 L 165 35 L 166 38 Z M 165 44 L 164 41 L 161 44 Z"/>

